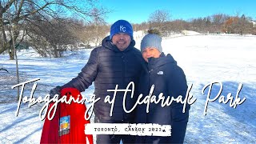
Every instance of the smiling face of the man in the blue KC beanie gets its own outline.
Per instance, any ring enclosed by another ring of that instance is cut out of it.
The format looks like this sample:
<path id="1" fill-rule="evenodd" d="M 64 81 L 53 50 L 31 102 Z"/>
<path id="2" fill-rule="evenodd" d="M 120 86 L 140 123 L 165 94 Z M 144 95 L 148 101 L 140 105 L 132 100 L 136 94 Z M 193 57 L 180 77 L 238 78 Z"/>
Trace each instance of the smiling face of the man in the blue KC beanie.
<path id="1" fill-rule="evenodd" d="M 119 50 L 126 50 L 130 45 L 130 35 L 125 33 L 114 34 L 112 42 L 118 47 Z"/>

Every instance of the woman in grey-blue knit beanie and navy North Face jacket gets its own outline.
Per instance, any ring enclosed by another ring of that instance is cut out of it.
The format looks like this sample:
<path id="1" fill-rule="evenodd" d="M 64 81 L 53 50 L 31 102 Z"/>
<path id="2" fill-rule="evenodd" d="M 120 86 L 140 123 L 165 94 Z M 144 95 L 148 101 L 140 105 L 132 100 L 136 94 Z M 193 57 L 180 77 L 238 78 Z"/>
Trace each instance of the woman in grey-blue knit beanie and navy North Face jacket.
<path id="1" fill-rule="evenodd" d="M 177 66 L 174 58 L 162 53 L 162 38 L 158 34 L 149 31 L 142 38 L 141 52 L 146 66 L 140 77 L 140 93 L 146 96 L 154 85 L 152 95 L 158 97 L 162 93 L 165 98 L 168 96 L 177 98 L 182 95 L 186 97 L 186 76 L 183 70 Z M 160 125 L 171 125 L 171 136 L 169 137 L 138 137 L 137 142 L 141 143 L 183 143 L 186 134 L 186 125 L 189 118 L 190 106 L 186 106 L 186 112 L 182 113 L 183 104 L 172 102 L 170 106 L 161 106 L 151 103 L 149 113 L 146 114 L 146 105 L 140 105 L 137 109 L 138 123 L 156 123 Z"/>

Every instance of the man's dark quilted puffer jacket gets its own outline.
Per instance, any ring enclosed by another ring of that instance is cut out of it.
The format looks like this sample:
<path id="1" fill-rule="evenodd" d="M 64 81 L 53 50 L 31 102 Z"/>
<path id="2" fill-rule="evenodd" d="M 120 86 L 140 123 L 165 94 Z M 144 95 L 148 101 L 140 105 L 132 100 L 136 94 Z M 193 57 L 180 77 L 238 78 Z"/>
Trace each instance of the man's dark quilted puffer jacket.
<path id="1" fill-rule="evenodd" d="M 118 85 L 119 90 L 126 89 L 130 82 L 134 82 L 135 86 L 138 85 L 138 78 L 142 70 L 142 54 L 134 48 L 134 45 L 135 42 L 132 40 L 130 46 L 121 51 L 112 44 L 109 37 L 104 38 L 102 46 L 91 51 L 86 66 L 82 68 L 78 76 L 62 88 L 74 87 L 82 92 L 94 82 L 94 94 L 96 98 L 101 98 L 94 105 L 95 116 L 103 120 L 131 122 L 134 114 L 126 114 L 122 107 L 124 92 L 117 92 L 116 94 L 112 117 L 110 117 L 111 105 L 104 102 L 104 99 L 110 95 L 110 100 L 112 100 L 114 92 L 107 92 L 107 90 L 114 90 L 116 85 Z M 134 91 L 134 98 L 130 98 L 130 94 L 130 92 L 126 94 L 127 110 L 134 106 L 138 97 L 136 91 Z"/>

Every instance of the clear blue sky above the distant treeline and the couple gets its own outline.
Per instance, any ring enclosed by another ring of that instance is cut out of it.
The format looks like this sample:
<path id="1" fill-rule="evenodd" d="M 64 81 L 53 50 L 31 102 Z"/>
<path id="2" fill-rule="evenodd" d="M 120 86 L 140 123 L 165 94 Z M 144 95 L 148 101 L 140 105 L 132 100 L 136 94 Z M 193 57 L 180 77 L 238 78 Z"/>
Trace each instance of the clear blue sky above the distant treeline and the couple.
<path id="1" fill-rule="evenodd" d="M 212 14 L 246 14 L 256 19 L 255 0 L 100 0 L 102 6 L 113 10 L 107 14 L 106 22 L 118 19 L 129 22 L 146 22 L 155 10 L 168 10 L 171 19 L 206 17 Z"/>

